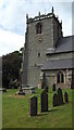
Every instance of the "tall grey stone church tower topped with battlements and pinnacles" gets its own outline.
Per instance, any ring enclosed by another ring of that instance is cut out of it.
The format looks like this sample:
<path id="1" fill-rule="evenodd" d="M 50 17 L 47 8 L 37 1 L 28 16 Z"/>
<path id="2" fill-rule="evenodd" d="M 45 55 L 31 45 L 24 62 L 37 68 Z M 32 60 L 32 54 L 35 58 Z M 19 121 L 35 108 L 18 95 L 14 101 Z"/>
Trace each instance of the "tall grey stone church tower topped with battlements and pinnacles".
<path id="1" fill-rule="evenodd" d="M 34 18 L 26 15 L 25 46 L 23 53 L 22 87 L 37 87 L 40 69 L 47 61 L 46 51 L 53 50 L 62 37 L 62 22 L 51 13 L 38 14 Z"/>

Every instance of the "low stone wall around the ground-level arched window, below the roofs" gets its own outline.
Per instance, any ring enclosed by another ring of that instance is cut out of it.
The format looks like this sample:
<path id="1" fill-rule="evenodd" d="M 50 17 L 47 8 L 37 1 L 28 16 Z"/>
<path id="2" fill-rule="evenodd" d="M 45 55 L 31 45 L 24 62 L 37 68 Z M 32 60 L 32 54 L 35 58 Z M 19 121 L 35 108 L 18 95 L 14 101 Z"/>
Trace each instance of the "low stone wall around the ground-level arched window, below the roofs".
<path id="1" fill-rule="evenodd" d="M 52 84 L 55 83 L 55 87 L 59 88 L 71 88 L 72 70 L 64 69 L 64 83 L 57 83 L 57 74 L 59 70 L 48 70 L 46 73 L 46 82 L 47 87 L 52 88 Z"/>

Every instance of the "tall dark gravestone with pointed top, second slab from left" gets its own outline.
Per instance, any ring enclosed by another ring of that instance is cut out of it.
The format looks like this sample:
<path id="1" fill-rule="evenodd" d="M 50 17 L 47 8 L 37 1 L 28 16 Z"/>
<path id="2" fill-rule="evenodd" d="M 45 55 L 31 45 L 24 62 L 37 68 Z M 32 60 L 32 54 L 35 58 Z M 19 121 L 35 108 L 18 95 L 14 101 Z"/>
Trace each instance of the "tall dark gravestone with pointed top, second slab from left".
<path id="1" fill-rule="evenodd" d="M 46 90 L 40 94 L 40 112 L 48 112 L 48 93 Z"/>

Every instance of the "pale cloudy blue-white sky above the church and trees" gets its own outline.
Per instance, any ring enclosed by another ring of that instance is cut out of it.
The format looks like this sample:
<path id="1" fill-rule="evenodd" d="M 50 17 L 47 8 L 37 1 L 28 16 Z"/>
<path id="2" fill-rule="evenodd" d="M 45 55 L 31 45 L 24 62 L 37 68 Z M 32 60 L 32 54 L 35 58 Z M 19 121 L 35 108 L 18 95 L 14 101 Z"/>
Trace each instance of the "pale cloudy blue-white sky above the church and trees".
<path id="1" fill-rule="evenodd" d="M 46 1 L 46 2 L 45 2 Z M 24 47 L 26 14 L 51 12 L 62 20 L 63 36 L 72 35 L 72 0 L 0 0 L 0 56 Z"/>

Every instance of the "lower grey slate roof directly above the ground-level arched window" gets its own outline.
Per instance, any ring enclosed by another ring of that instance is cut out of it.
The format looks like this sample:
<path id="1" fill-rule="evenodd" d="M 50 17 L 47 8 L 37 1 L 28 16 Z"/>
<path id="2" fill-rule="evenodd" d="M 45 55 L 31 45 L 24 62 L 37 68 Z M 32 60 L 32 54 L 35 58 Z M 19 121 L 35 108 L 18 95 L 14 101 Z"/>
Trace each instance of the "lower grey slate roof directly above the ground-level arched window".
<path id="1" fill-rule="evenodd" d="M 67 60 L 50 60 L 47 61 L 42 67 L 41 70 L 50 70 L 50 69 L 65 69 L 65 68 L 74 68 L 74 58 L 67 58 Z"/>

